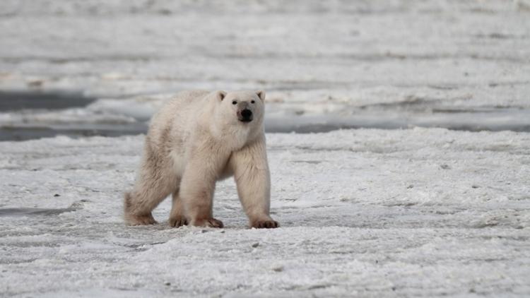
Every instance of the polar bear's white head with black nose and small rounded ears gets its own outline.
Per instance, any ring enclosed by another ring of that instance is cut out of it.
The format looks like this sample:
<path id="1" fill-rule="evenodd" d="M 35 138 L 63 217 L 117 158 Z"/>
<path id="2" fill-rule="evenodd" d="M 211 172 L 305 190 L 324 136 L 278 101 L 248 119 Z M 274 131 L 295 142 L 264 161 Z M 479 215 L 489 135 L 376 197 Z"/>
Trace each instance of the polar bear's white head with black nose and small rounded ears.
<path id="1" fill-rule="evenodd" d="M 264 91 L 216 91 L 220 117 L 225 123 L 240 126 L 261 126 L 264 118 Z"/>

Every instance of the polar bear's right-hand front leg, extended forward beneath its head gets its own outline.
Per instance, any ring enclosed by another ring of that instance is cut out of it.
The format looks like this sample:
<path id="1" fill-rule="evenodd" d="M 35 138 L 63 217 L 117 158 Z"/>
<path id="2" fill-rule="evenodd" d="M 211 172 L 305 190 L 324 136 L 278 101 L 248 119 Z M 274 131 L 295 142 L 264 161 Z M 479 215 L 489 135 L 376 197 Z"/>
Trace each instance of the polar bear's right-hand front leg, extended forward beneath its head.
<path id="1" fill-rule="evenodd" d="M 234 172 L 237 193 L 249 217 L 250 227 L 278 227 L 278 222 L 269 215 L 271 176 L 265 139 L 259 138 L 254 143 L 232 153 L 230 167 Z"/>

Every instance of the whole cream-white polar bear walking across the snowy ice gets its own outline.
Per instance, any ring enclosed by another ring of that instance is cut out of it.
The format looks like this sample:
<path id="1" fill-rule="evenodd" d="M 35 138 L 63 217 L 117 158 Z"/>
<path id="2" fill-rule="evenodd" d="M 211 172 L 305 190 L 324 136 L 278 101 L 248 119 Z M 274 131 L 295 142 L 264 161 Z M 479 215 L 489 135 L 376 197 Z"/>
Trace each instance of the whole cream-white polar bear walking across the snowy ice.
<path id="1" fill-rule="evenodd" d="M 213 191 L 233 176 L 250 227 L 278 227 L 269 215 L 264 100 L 264 91 L 196 90 L 167 102 L 151 119 L 141 169 L 125 193 L 126 223 L 156 223 L 151 211 L 171 193 L 171 226 L 223 227 L 213 218 Z"/>

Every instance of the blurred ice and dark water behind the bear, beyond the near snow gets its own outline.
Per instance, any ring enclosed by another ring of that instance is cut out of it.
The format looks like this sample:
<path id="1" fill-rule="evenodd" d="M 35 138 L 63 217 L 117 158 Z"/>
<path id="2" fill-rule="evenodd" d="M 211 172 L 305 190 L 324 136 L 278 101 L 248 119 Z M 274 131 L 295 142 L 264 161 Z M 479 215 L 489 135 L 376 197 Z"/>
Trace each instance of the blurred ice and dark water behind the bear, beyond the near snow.
<path id="1" fill-rule="evenodd" d="M 0 2 L 0 140 L 146 131 L 264 89 L 267 131 L 530 131 L 529 1 Z"/>

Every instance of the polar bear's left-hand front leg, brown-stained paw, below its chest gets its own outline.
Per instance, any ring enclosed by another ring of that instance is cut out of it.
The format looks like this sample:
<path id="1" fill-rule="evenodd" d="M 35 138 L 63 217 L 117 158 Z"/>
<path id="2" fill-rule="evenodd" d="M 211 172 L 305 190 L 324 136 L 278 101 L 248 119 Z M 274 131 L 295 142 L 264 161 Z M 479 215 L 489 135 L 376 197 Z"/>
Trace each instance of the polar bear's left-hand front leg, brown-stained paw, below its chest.
<path id="1" fill-rule="evenodd" d="M 212 155 L 195 157 L 188 162 L 182 183 L 180 198 L 189 225 L 196 227 L 223 227 L 223 222 L 213 218 L 213 191 L 219 172 L 219 160 Z M 224 161 L 224 160 L 223 160 Z"/>

